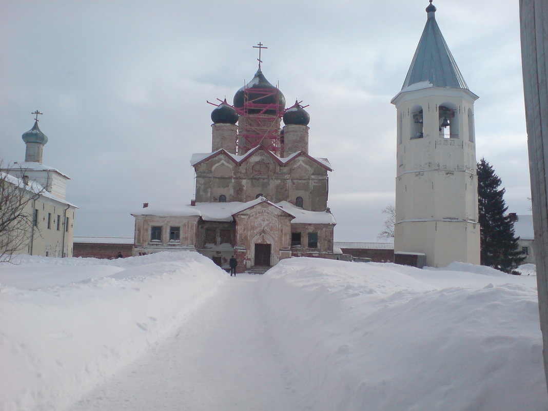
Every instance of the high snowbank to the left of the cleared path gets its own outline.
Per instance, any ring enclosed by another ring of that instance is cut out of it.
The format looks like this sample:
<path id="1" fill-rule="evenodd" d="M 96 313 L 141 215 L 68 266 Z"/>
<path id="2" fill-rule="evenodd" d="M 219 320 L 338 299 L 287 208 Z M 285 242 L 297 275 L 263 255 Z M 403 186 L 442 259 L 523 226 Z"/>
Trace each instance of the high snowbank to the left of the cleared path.
<path id="1" fill-rule="evenodd" d="M 226 273 L 202 255 L 0 266 L 0 409 L 61 409 L 172 333 Z"/>

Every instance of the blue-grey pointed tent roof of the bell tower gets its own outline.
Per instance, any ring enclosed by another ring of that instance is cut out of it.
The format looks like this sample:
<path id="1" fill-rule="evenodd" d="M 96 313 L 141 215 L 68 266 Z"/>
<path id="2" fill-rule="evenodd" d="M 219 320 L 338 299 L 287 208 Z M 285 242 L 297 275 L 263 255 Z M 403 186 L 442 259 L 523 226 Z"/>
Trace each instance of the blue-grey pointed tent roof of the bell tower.
<path id="1" fill-rule="evenodd" d="M 436 22 L 436 7 L 430 4 L 426 8 L 427 19 L 423 35 L 420 37 L 413 61 L 403 82 L 402 92 L 406 89 L 427 87 L 450 87 L 469 90 L 447 43 Z M 424 87 L 421 87 L 422 83 Z"/>

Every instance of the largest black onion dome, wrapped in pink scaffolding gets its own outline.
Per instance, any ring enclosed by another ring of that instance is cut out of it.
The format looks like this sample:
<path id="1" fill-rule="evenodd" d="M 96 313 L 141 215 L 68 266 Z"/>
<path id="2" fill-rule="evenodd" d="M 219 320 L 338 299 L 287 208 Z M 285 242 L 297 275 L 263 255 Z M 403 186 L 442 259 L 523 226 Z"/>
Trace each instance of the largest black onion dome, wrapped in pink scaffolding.
<path id="1" fill-rule="evenodd" d="M 253 89 L 258 89 L 257 93 L 253 93 Z M 234 95 L 234 106 L 238 109 L 243 109 L 244 98 L 246 94 L 246 89 L 252 89 L 248 94 L 248 100 L 253 101 L 253 104 L 259 105 L 270 105 L 274 104 L 278 106 L 278 110 L 283 110 L 286 107 L 286 98 L 280 90 L 275 86 L 270 84 L 266 77 L 262 74 L 262 71 L 259 69 L 253 76 L 253 79 L 239 89 Z M 260 89 L 260 91 L 259 91 Z M 268 94 L 268 90 L 271 89 L 273 93 Z M 265 94 L 266 90 L 266 94 Z M 249 109 L 248 113 L 259 113 L 261 111 L 260 107 Z M 266 114 L 276 114 L 275 110 L 267 110 Z"/>

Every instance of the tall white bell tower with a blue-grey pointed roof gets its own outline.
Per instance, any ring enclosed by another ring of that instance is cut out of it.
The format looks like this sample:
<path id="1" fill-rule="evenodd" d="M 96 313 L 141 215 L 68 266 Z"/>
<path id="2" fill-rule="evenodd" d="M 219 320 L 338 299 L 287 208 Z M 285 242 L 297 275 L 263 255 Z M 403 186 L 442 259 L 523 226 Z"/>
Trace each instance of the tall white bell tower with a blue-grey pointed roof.
<path id="1" fill-rule="evenodd" d="M 427 20 L 397 109 L 395 253 L 426 265 L 479 264 L 474 101 L 436 22 Z"/>

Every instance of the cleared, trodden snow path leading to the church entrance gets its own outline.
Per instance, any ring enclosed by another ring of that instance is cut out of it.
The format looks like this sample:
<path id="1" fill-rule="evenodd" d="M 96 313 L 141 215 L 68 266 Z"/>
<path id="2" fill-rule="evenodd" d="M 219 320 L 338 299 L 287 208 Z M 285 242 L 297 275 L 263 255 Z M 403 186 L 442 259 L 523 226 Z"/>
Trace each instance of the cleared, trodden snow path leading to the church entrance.
<path id="1" fill-rule="evenodd" d="M 230 278 L 163 344 L 70 407 L 73 411 L 278 411 L 299 404 L 271 345 L 259 276 Z"/>

